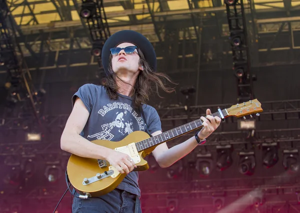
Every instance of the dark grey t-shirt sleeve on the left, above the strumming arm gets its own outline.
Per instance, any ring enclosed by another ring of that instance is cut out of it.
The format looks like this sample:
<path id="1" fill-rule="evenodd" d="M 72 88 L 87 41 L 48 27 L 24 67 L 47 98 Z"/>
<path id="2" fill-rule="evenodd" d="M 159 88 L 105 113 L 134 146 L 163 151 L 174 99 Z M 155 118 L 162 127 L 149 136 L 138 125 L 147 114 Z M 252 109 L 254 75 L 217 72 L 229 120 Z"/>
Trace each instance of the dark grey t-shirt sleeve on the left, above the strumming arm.
<path id="1" fill-rule="evenodd" d="M 76 96 L 84 103 L 86 109 L 90 113 L 95 100 L 95 85 L 91 83 L 84 84 L 79 87 L 78 91 L 72 96 L 72 108 L 75 103 Z"/>

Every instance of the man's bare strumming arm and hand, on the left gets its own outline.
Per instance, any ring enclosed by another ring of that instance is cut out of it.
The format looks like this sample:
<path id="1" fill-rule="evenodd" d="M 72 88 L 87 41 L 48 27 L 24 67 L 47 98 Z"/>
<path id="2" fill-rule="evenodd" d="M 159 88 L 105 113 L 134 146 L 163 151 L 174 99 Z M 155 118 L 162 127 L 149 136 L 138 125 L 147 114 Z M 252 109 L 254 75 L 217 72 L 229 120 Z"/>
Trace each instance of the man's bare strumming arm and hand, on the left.
<path id="1" fill-rule="evenodd" d="M 61 134 L 61 149 L 81 157 L 108 160 L 121 173 L 132 171 L 135 165 L 133 161 L 129 161 L 129 155 L 92 143 L 80 135 L 88 116 L 89 112 L 84 103 L 76 97 Z"/>

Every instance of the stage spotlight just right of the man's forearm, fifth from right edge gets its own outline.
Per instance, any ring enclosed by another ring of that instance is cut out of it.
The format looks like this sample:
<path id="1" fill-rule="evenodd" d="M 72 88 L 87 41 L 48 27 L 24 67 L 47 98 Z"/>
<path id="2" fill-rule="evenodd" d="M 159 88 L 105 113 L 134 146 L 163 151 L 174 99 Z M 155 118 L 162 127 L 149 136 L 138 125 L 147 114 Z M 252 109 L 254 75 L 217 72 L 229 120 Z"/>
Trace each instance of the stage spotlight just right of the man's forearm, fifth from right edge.
<path id="1" fill-rule="evenodd" d="M 196 159 L 196 170 L 199 172 L 200 176 L 205 177 L 211 173 L 212 169 L 212 159 L 211 154 L 197 154 Z"/>

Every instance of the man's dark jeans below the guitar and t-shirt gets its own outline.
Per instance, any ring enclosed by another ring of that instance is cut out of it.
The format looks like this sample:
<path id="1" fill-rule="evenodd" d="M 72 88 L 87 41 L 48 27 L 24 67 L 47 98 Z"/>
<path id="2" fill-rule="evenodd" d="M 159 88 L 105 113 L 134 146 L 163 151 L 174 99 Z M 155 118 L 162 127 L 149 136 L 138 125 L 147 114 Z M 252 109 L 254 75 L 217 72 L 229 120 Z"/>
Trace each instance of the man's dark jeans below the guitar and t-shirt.
<path id="1" fill-rule="evenodd" d="M 136 201 L 136 205 L 135 205 Z M 114 189 L 99 197 L 81 199 L 74 197 L 72 213 L 141 213 L 138 196 Z"/>

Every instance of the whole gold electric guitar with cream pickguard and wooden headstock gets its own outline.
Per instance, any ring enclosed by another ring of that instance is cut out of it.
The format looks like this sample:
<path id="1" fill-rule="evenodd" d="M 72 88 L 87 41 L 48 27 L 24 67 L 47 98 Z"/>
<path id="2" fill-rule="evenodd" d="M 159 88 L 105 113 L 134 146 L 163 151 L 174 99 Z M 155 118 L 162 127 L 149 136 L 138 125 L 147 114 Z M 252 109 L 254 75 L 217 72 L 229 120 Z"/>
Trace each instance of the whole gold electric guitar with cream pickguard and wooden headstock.
<path id="1" fill-rule="evenodd" d="M 212 115 L 222 119 L 228 116 L 241 117 L 262 111 L 260 106 L 260 102 L 254 99 L 232 105 L 230 108 L 218 109 Z M 92 140 L 91 142 L 128 154 L 137 166 L 134 171 L 142 171 L 149 168 L 147 161 L 143 158 L 158 144 L 200 127 L 202 127 L 202 120 L 197 119 L 152 137 L 144 131 L 134 131 L 118 142 L 108 140 Z M 126 175 L 119 173 L 106 160 L 85 158 L 74 154 L 68 160 L 67 174 L 70 183 L 82 198 L 100 196 L 112 191 Z"/>

